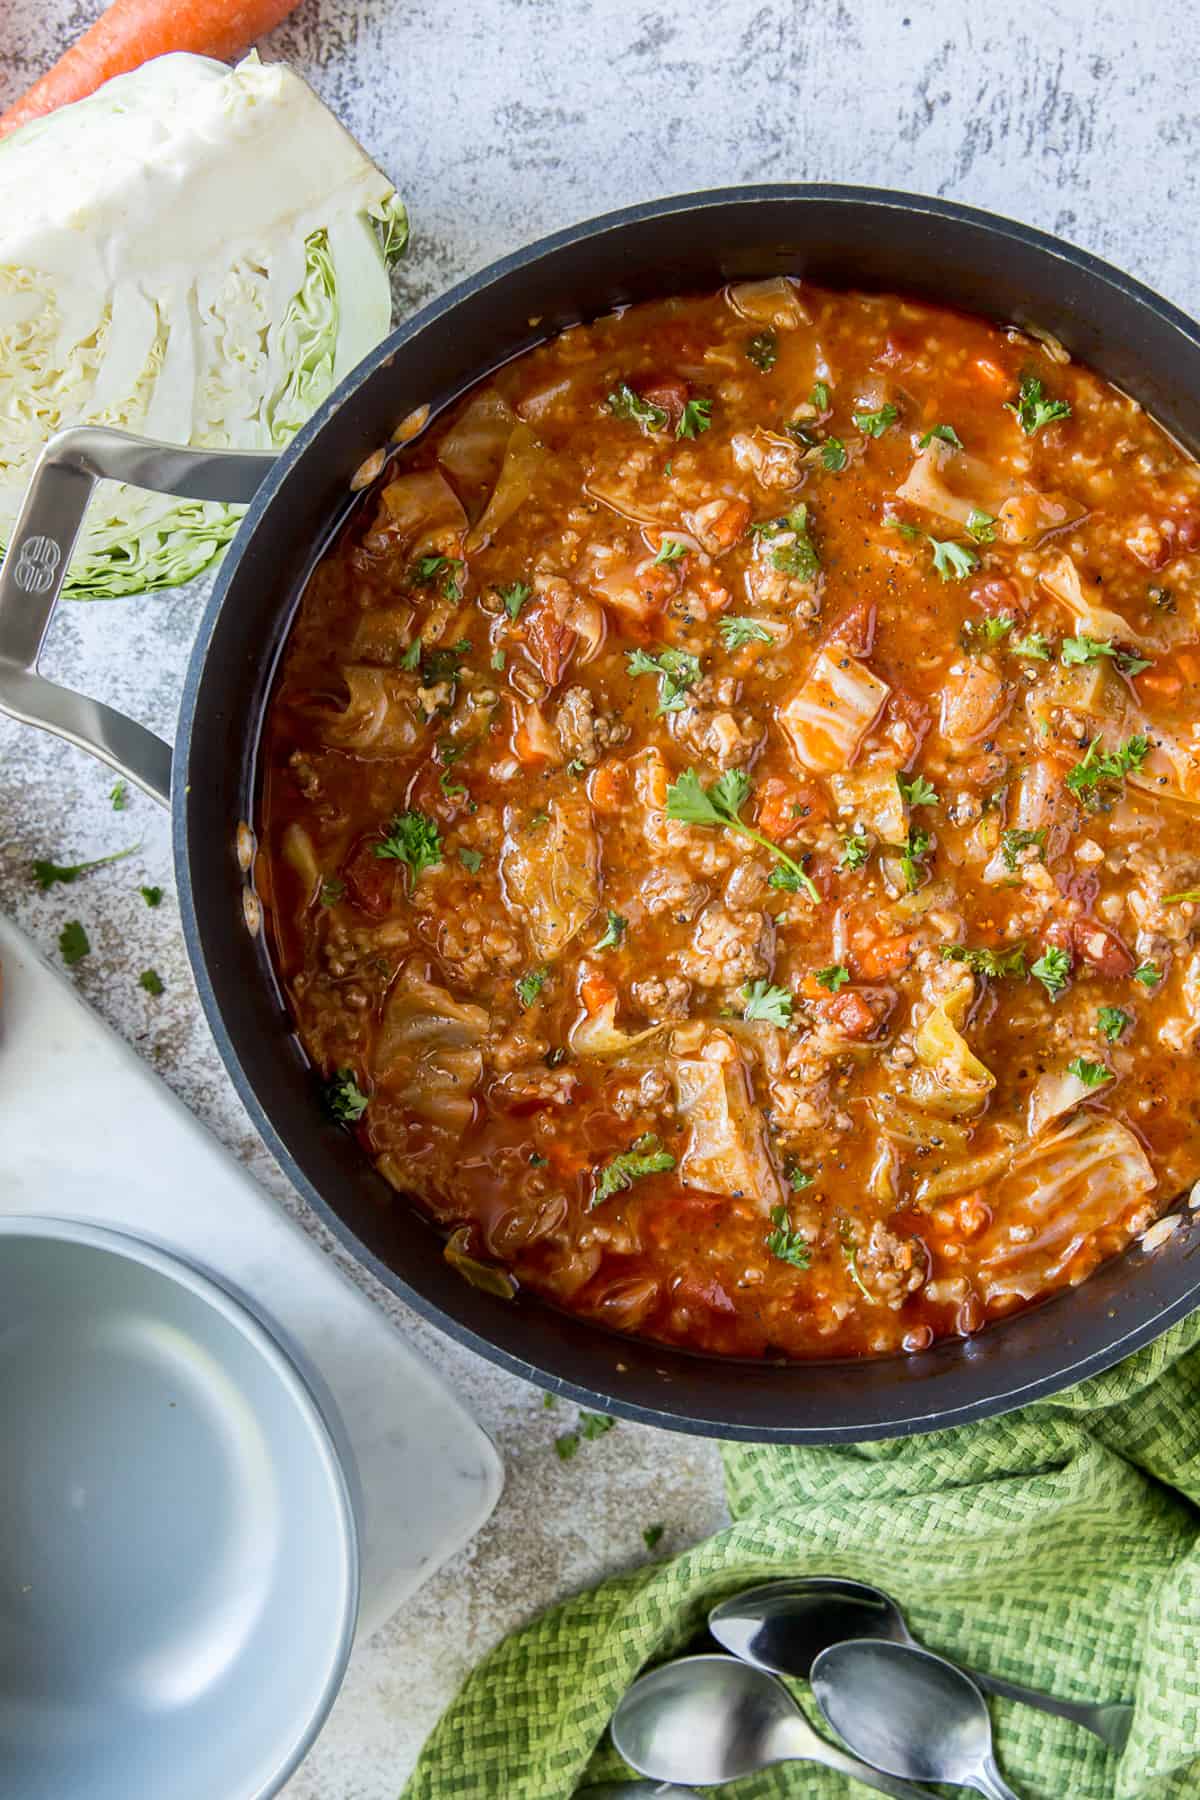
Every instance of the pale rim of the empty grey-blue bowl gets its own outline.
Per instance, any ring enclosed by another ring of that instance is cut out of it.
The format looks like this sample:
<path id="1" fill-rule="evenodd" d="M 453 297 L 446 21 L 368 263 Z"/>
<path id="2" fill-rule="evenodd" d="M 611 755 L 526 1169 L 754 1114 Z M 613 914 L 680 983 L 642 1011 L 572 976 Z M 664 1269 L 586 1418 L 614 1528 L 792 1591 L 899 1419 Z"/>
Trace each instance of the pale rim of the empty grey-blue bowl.
<path id="1" fill-rule="evenodd" d="M 329 1660 L 322 1678 L 320 1694 L 286 1755 L 281 1759 L 277 1769 L 254 1789 L 246 1789 L 245 1796 L 228 1796 L 228 1800 L 273 1800 L 286 1782 L 291 1780 L 324 1730 L 333 1703 L 345 1679 L 345 1670 L 354 1649 L 362 1589 L 362 1546 L 358 1514 L 354 1508 L 344 1453 L 338 1445 L 338 1433 L 326 1417 L 326 1409 L 308 1375 L 297 1359 L 284 1350 L 264 1316 L 252 1310 L 248 1301 L 239 1300 L 228 1287 L 225 1287 L 219 1276 L 209 1274 L 182 1253 L 167 1247 L 166 1244 L 158 1244 L 153 1238 L 144 1238 L 133 1231 L 126 1231 L 122 1226 L 99 1226 L 85 1219 L 72 1219 L 58 1213 L 9 1213 L 0 1217 L 0 1240 L 2 1238 L 72 1244 L 101 1251 L 103 1255 L 117 1256 L 122 1262 L 149 1269 L 167 1282 L 173 1282 L 176 1287 L 193 1294 L 216 1312 L 234 1332 L 237 1332 L 239 1337 L 246 1341 L 259 1359 L 268 1364 L 275 1381 L 308 1427 L 308 1436 L 329 1487 L 338 1523 L 342 1618 L 336 1631 L 336 1643 L 331 1643 L 329 1647 Z"/>

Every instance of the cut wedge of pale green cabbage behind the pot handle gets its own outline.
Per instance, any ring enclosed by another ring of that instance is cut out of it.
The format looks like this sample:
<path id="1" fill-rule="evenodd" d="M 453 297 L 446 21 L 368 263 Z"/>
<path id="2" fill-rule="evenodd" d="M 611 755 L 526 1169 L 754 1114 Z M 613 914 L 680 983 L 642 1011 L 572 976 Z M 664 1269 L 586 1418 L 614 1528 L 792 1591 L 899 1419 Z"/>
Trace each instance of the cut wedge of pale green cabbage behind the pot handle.
<path id="1" fill-rule="evenodd" d="M 387 333 L 396 189 L 282 63 L 160 56 L 0 142 L 0 544 L 68 425 L 288 443 Z M 200 574 L 243 508 L 103 482 L 67 592 Z"/>

